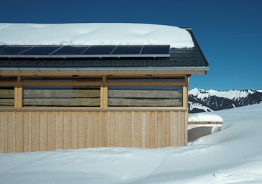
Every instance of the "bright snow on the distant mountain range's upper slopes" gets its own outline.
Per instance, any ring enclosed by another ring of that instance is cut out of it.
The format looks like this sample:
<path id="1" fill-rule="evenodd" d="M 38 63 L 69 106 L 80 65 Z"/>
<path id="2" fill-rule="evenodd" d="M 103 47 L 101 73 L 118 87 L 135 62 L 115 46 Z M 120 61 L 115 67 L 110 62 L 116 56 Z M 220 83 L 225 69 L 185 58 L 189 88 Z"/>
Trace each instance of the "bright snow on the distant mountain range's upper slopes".
<path id="1" fill-rule="evenodd" d="M 203 89 L 192 89 L 188 91 L 190 95 L 194 95 L 200 99 L 208 98 L 209 96 L 217 96 L 217 97 L 223 97 L 223 98 L 228 98 L 232 100 L 237 100 L 240 98 L 246 98 L 247 95 L 253 94 L 254 90 L 228 90 L 228 91 L 217 91 L 214 89 L 205 91 Z"/>

